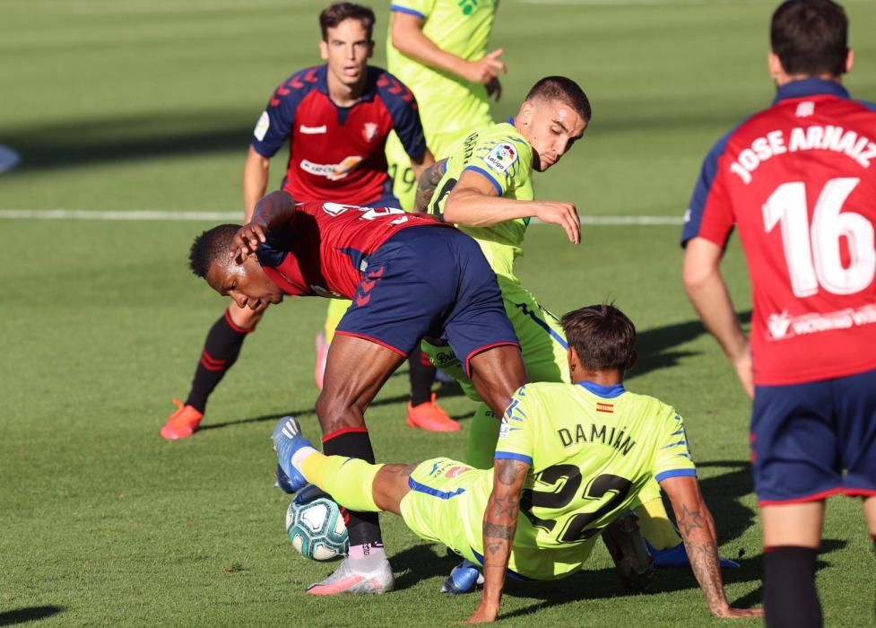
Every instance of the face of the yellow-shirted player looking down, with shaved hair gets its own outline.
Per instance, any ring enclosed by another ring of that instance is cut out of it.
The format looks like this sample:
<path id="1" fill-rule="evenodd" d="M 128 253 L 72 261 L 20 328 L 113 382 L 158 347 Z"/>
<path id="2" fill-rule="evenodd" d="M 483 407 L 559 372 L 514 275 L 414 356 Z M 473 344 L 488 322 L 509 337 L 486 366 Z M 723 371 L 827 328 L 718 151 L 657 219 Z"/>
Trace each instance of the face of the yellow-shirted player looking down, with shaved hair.
<path id="1" fill-rule="evenodd" d="M 584 135 L 587 123 L 561 100 L 525 102 L 520 109 L 523 135 L 533 145 L 533 168 L 544 172 Z"/>

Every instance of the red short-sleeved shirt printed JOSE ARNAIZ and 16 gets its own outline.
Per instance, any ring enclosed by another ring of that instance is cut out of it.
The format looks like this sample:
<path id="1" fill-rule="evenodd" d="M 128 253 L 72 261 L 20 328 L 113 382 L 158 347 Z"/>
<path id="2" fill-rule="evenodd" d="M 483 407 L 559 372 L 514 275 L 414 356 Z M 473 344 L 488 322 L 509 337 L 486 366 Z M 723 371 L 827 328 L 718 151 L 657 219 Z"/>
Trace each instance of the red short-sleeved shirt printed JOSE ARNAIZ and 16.
<path id="1" fill-rule="evenodd" d="M 755 384 L 876 369 L 874 225 L 876 111 L 839 83 L 785 84 L 707 155 L 682 243 L 738 228 Z"/>

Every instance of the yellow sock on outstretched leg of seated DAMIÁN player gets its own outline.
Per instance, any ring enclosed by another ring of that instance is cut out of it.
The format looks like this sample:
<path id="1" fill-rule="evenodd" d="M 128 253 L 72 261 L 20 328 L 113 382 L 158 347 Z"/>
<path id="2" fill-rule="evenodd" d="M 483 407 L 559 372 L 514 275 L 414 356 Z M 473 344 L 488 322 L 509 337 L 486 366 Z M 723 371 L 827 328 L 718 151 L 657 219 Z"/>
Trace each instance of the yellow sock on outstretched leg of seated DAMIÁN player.
<path id="1" fill-rule="evenodd" d="M 374 503 L 374 478 L 383 465 L 371 465 L 359 458 L 325 456 L 313 451 L 300 461 L 293 458 L 301 474 L 316 484 L 335 502 L 348 510 L 379 512 Z"/>

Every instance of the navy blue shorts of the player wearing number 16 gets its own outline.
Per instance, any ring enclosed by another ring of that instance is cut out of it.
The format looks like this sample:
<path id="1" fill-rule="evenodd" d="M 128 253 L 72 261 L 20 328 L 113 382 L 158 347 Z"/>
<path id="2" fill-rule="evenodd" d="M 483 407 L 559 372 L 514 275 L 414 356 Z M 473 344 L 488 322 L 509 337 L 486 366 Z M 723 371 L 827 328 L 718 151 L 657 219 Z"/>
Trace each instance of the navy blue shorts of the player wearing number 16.
<path id="1" fill-rule="evenodd" d="M 876 371 L 755 388 L 751 461 L 761 505 L 876 495 Z"/>

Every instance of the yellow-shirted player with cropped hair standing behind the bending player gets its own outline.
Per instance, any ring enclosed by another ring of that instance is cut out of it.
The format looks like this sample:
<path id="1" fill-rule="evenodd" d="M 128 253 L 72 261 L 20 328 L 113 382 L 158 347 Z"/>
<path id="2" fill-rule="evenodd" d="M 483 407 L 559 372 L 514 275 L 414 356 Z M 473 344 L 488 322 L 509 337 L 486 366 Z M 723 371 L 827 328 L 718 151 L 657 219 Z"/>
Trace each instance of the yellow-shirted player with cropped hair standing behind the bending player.
<path id="1" fill-rule="evenodd" d="M 478 241 L 496 273 L 530 381 L 568 382 L 568 345 L 557 318 L 516 277 L 515 259 L 522 253 L 533 217 L 559 224 L 576 244 L 581 237 L 574 204 L 534 200 L 533 171 L 543 172 L 559 161 L 584 134 L 591 114 L 590 102 L 575 82 L 562 76 L 544 78 L 527 94 L 516 118 L 469 135 L 446 161 L 439 161 L 421 177 L 418 210 L 455 222 Z M 462 384 L 469 397 L 481 402 L 448 347 L 423 343 L 423 348 L 438 368 Z M 498 433 L 499 421 L 481 402 L 469 434 L 470 465 L 491 466 Z M 687 564 L 684 545 L 669 521 L 657 484 L 646 487 L 640 500 L 637 513 L 655 563 L 660 567 Z"/>

